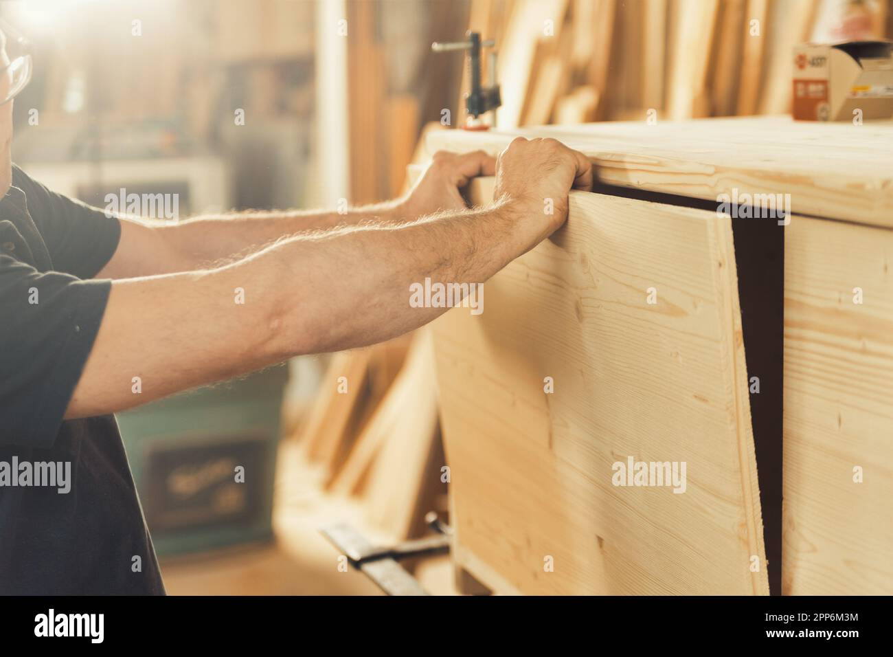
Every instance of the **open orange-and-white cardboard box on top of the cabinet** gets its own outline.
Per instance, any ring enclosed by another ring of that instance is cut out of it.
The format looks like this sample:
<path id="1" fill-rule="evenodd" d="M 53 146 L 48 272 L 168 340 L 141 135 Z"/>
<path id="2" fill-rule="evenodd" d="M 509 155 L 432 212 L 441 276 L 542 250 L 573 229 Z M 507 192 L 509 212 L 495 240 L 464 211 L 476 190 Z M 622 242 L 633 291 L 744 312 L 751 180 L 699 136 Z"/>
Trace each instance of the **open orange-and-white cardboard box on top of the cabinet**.
<path id="1" fill-rule="evenodd" d="M 793 114 L 799 121 L 893 116 L 891 41 L 796 46 L 793 68 Z"/>

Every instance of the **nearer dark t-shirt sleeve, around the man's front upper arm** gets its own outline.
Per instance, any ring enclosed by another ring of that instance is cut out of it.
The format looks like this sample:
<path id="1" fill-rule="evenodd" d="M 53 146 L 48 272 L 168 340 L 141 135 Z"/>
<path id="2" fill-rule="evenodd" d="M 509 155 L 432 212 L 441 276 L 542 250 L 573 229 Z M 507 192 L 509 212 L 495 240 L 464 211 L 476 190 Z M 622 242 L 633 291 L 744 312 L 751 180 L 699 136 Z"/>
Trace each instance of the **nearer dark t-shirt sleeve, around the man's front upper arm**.
<path id="1" fill-rule="evenodd" d="M 111 287 L 0 255 L 0 444 L 53 444 Z"/>

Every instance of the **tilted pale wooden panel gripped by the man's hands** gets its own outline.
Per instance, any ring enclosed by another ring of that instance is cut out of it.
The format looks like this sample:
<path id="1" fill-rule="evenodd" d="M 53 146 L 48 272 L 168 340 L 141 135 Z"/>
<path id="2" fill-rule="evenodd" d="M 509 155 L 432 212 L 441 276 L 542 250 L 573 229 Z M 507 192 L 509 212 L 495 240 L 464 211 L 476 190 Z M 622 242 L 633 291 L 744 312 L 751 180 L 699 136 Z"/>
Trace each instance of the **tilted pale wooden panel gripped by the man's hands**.
<path id="1" fill-rule="evenodd" d="M 433 324 L 459 565 L 506 593 L 767 594 L 730 220 L 573 192 L 485 291 Z M 628 457 L 684 461 L 685 493 L 613 485 Z"/>

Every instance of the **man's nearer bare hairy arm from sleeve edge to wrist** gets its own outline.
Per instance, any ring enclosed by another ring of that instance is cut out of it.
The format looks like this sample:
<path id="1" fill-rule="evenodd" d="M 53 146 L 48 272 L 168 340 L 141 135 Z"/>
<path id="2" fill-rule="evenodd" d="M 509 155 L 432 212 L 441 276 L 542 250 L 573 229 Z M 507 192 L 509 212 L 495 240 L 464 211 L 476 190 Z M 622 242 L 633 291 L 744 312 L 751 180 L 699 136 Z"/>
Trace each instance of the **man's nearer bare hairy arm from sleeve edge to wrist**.
<path id="1" fill-rule="evenodd" d="M 116 281 L 67 417 L 410 331 L 446 310 L 411 307 L 413 282 L 484 282 L 546 236 L 540 224 L 503 203 L 302 234 L 217 269 Z"/>

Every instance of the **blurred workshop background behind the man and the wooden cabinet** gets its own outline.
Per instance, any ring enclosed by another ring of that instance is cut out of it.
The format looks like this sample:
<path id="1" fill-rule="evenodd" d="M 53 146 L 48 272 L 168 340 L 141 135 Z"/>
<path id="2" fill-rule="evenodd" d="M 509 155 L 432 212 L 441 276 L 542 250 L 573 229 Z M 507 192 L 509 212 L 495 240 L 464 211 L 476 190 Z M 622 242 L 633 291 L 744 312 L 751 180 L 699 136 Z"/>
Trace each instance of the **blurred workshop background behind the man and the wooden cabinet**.
<path id="1" fill-rule="evenodd" d="M 424 132 L 465 122 L 463 55 L 430 45 L 467 29 L 497 41 L 502 128 L 785 114 L 797 43 L 893 36 L 887 0 L 26 0 L 0 17 L 35 66 L 15 162 L 96 206 L 177 194 L 180 216 L 400 194 Z M 169 593 L 378 593 L 320 528 L 394 543 L 448 521 L 420 341 L 119 416 Z M 455 590 L 447 557 L 415 574 Z"/>

